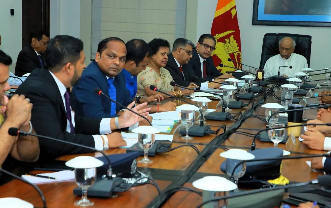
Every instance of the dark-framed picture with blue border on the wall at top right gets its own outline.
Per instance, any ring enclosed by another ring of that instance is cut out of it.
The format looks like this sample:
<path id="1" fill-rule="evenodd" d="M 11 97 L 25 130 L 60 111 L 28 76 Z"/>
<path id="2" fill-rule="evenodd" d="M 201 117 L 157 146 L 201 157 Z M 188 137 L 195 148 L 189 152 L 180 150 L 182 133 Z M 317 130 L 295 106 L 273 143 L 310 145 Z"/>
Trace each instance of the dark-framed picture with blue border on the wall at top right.
<path id="1" fill-rule="evenodd" d="M 252 24 L 331 27 L 331 0 L 254 0 Z"/>

